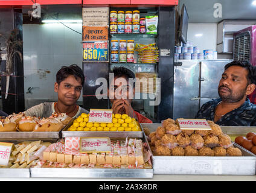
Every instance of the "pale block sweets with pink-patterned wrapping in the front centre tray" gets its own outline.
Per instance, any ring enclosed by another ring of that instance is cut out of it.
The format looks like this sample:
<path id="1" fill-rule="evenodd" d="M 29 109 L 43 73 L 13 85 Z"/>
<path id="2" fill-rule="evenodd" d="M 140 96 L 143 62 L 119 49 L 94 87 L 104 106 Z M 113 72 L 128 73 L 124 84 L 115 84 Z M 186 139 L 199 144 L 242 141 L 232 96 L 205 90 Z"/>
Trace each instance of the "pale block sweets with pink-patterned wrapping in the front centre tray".
<path id="1" fill-rule="evenodd" d="M 80 153 L 79 138 L 66 138 L 51 144 L 43 152 L 43 160 L 34 167 L 42 168 L 152 168 L 150 151 L 141 139 L 111 140 L 109 153 Z M 69 142 L 72 145 L 67 145 Z"/>

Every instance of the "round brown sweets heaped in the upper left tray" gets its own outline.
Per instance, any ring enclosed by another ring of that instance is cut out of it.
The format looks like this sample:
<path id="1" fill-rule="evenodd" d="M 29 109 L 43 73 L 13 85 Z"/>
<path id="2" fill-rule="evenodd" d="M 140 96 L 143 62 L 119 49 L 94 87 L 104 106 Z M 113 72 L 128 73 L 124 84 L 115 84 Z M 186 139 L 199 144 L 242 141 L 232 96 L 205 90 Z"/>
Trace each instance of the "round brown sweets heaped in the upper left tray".
<path id="1" fill-rule="evenodd" d="M 0 120 L 0 131 L 60 131 L 71 119 L 66 113 L 53 113 L 49 118 L 42 119 L 13 113 Z"/>

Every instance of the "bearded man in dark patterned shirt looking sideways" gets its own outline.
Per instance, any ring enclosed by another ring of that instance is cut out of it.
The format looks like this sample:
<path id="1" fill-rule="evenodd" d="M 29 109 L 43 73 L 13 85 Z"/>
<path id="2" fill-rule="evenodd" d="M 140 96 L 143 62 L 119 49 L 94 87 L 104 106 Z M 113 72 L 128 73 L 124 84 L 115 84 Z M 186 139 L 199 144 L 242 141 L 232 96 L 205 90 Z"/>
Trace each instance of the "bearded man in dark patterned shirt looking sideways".
<path id="1" fill-rule="evenodd" d="M 228 63 L 218 86 L 220 98 L 203 104 L 196 118 L 205 118 L 218 125 L 256 125 L 256 105 L 247 98 L 255 84 L 256 70 L 249 62 Z"/>

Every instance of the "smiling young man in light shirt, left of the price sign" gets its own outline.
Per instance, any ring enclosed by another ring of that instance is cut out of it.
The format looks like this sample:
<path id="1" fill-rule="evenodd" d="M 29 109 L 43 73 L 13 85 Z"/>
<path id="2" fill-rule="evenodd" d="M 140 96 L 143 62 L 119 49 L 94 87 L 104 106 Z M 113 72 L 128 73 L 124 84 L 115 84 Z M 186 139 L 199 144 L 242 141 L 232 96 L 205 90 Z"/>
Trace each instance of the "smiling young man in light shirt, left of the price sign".
<path id="1" fill-rule="evenodd" d="M 25 115 L 48 118 L 52 113 L 57 112 L 66 113 L 69 117 L 75 118 L 82 113 L 89 113 L 76 104 L 84 82 L 85 75 L 79 66 L 62 66 L 56 74 L 56 83 L 54 84 L 54 91 L 58 93 L 58 101 L 31 107 L 24 112 Z"/>

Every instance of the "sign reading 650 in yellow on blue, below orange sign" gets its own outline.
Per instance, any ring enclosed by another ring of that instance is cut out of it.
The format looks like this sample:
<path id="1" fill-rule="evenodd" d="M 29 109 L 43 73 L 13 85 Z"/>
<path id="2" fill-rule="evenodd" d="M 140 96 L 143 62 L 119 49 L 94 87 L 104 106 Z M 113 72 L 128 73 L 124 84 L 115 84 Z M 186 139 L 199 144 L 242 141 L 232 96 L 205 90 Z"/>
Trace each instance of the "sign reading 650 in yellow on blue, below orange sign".
<path id="1" fill-rule="evenodd" d="M 109 41 L 83 41 L 83 62 L 109 62 Z"/>

